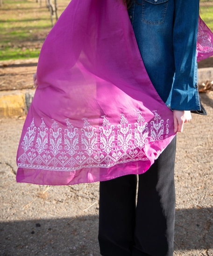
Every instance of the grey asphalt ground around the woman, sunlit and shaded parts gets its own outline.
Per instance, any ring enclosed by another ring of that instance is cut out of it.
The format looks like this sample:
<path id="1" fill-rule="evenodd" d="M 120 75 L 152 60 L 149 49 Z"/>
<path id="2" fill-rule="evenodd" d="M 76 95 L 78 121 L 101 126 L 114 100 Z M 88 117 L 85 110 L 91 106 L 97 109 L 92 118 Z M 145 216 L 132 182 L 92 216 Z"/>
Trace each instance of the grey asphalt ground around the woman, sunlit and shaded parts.
<path id="1" fill-rule="evenodd" d="M 213 93 L 179 133 L 175 256 L 213 256 Z M 0 119 L 0 256 L 99 256 L 99 183 L 16 183 L 22 118 Z"/>

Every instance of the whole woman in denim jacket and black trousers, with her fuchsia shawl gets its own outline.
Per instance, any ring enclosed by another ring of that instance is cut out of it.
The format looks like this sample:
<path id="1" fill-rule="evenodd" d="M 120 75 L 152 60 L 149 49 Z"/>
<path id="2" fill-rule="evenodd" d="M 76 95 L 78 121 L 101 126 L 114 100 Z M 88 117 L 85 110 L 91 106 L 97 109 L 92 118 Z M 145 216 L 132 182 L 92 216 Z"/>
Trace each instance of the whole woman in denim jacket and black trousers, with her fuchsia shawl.
<path id="1" fill-rule="evenodd" d="M 16 180 L 101 181 L 101 254 L 171 256 L 175 134 L 200 109 L 199 1 L 133 1 L 128 12 L 120 0 L 72 0 L 60 16 L 40 53 Z"/>

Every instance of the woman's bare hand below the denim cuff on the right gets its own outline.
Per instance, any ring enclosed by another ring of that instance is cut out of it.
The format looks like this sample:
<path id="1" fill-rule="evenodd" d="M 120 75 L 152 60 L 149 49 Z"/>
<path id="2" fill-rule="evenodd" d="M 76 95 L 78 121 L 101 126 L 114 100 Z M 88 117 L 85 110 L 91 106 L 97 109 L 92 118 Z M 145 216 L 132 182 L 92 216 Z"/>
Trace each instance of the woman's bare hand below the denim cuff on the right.
<path id="1" fill-rule="evenodd" d="M 174 110 L 174 132 L 183 132 L 184 123 L 192 120 L 191 111 L 189 110 Z"/>

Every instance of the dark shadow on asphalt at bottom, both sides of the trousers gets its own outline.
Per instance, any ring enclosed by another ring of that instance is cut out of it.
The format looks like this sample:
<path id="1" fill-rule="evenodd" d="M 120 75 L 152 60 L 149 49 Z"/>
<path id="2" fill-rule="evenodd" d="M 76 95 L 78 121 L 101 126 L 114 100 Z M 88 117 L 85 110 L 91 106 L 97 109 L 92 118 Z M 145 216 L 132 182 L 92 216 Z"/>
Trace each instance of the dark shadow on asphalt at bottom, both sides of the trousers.
<path id="1" fill-rule="evenodd" d="M 1 256 L 99 256 L 98 216 L 0 223 Z M 175 250 L 213 248 L 213 208 L 176 211 Z"/>

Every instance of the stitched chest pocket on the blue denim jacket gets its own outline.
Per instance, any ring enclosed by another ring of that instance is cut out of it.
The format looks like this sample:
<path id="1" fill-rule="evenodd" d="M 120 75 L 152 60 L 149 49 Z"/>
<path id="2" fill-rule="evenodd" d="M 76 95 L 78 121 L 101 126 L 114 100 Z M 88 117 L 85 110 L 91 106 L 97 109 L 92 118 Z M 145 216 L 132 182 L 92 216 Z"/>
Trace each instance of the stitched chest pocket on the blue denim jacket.
<path id="1" fill-rule="evenodd" d="M 151 25 L 162 24 L 167 6 L 168 0 L 143 0 L 142 21 Z"/>

